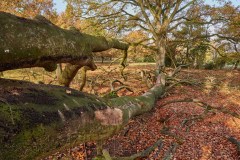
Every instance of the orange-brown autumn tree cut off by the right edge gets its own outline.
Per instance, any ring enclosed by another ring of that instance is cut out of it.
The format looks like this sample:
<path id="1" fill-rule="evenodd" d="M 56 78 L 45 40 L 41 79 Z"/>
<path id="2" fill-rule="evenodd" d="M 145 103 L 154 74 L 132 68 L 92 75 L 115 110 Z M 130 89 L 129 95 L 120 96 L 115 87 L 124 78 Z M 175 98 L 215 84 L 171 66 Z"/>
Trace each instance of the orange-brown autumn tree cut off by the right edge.
<path id="1" fill-rule="evenodd" d="M 219 57 L 224 62 L 233 62 L 237 68 L 240 62 L 240 9 L 239 6 L 233 6 L 226 3 L 215 10 L 215 15 L 221 17 L 222 21 L 217 28 L 216 44 L 224 51 Z"/>

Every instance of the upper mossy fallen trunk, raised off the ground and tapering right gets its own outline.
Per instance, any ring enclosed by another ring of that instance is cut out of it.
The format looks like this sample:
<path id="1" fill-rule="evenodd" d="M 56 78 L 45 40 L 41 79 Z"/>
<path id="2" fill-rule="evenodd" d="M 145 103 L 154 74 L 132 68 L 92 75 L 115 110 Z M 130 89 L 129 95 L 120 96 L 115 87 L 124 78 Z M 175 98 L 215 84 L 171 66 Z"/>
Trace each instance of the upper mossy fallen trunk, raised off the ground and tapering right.
<path id="1" fill-rule="evenodd" d="M 0 12 L 0 72 L 27 67 L 53 71 L 57 63 L 94 69 L 92 52 L 110 48 L 127 50 L 128 44 L 61 29 L 42 16 L 30 20 Z"/>

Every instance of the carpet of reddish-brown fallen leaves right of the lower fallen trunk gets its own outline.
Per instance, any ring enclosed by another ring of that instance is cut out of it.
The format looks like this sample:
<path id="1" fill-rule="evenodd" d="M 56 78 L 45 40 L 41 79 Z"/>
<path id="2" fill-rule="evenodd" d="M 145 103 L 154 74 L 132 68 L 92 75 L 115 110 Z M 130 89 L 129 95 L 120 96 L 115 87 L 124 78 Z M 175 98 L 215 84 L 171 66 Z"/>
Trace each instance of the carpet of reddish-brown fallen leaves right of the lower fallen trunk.
<path id="1" fill-rule="evenodd" d="M 240 72 L 184 70 L 178 78 L 198 85 L 177 85 L 151 113 L 132 120 L 125 130 L 108 140 L 105 147 L 111 155 L 131 155 L 162 139 L 163 144 L 145 159 L 240 158 L 237 147 L 227 139 L 233 136 L 240 140 L 240 119 L 231 115 L 240 115 Z M 173 102 L 185 99 L 198 99 L 214 109 L 195 102 Z M 164 105 L 168 102 L 173 103 Z"/>

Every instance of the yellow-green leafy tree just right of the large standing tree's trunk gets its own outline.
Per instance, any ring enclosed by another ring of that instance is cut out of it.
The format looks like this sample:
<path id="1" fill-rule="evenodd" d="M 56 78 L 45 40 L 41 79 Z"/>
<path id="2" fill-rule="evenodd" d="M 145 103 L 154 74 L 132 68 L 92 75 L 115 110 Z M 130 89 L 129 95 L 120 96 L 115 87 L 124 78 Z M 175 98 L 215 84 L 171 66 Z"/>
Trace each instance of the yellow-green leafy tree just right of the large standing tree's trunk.
<path id="1" fill-rule="evenodd" d="M 171 55 L 173 51 L 170 50 L 168 52 L 172 60 L 178 58 L 179 62 L 175 62 L 175 64 L 189 64 L 194 68 L 203 66 L 205 55 L 210 45 L 210 31 L 208 30 L 208 25 L 205 24 L 208 17 L 203 16 L 206 12 L 204 8 L 205 5 L 202 3 L 194 4 L 185 16 L 186 21 L 181 24 L 179 29 L 171 33 L 172 37 L 169 39 L 169 42 L 172 43 L 175 50 L 179 49 L 179 54 L 181 54 L 180 56 Z"/>

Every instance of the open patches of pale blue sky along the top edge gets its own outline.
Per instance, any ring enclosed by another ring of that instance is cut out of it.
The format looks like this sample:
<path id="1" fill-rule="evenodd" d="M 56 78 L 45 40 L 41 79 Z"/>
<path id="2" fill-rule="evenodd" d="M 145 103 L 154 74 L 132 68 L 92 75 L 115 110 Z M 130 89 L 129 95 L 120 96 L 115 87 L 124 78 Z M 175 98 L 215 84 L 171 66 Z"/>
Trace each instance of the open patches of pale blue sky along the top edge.
<path id="1" fill-rule="evenodd" d="M 208 4 L 217 4 L 216 0 L 205 0 L 206 3 Z M 55 3 L 55 8 L 58 13 L 63 12 L 66 8 L 66 2 L 64 0 L 53 0 Z M 240 0 L 231 0 L 231 2 L 235 5 L 238 6 L 240 5 Z"/>

